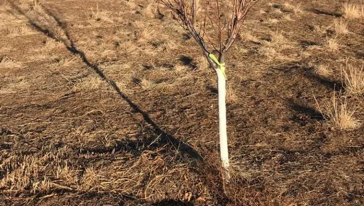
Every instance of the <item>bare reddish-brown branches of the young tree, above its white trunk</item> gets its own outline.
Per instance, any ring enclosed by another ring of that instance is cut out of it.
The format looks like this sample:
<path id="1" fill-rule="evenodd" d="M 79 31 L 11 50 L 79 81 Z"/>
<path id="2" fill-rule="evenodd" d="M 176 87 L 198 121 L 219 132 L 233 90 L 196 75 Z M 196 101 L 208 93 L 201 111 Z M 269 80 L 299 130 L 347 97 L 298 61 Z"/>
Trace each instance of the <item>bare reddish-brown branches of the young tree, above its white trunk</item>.
<path id="1" fill-rule="evenodd" d="M 196 0 L 158 0 L 159 3 L 168 7 L 172 10 L 174 14 L 178 16 L 181 23 L 188 30 L 189 34 L 193 37 L 193 39 L 200 45 L 203 50 L 204 55 L 210 63 L 210 66 L 213 69 L 218 69 L 218 66 L 211 61 L 209 58 L 208 46 L 205 44 L 205 39 L 208 41 L 209 45 L 219 53 L 219 60 L 221 63 L 224 61 L 224 53 L 228 51 L 228 49 L 233 45 L 237 36 L 242 28 L 242 25 L 246 19 L 246 16 L 249 10 L 259 1 L 259 0 L 231 0 L 230 3 L 220 3 L 221 0 L 216 0 L 215 6 L 209 4 L 209 2 L 205 2 L 204 11 L 206 12 L 215 12 L 216 19 L 211 19 L 211 16 L 208 15 L 207 18 L 210 20 L 208 28 L 212 28 L 215 32 L 217 39 L 210 39 L 206 29 L 206 16 L 204 18 L 203 25 L 200 25 L 200 30 L 196 29 L 196 19 L 198 18 L 197 9 L 196 9 Z M 231 9 L 227 9 L 228 6 L 231 5 Z M 223 7 L 223 8 L 222 8 Z M 229 12 L 230 16 L 223 16 L 224 22 L 222 21 L 222 13 Z M 215 17 L 213 17 L 215 18 Z M 228 19 L 230 18 L 230 19 Z M 218 42 L 218 48 L 215 46 L 214 42 Z M 210 47 L 210 48 L 211 48 Z"/>

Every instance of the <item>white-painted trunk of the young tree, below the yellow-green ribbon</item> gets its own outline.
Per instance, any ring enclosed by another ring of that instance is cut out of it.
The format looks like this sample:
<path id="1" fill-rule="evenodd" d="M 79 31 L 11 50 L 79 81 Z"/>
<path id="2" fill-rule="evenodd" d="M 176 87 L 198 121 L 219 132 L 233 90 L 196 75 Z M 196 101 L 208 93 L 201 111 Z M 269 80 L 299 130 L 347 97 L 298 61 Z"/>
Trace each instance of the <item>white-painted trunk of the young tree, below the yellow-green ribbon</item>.
<path id="1" fill-rule="evenodd" d="M 217 87 L 219 96 L 219 136 L 220 136 L 220 158 L 222 166 L 227 170 L 229 167 L 229 153 L 227 149 L 227 131 L 226 131 L 226 80 L 220 69 L 217 73 Z"/>

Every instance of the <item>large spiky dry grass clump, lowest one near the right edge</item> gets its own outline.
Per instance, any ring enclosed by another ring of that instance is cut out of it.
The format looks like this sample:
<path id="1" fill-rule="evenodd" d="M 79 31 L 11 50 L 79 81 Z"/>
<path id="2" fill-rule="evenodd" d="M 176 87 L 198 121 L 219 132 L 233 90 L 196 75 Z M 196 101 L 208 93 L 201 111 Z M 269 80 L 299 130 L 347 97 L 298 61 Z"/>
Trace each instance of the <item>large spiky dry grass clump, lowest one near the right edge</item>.
<path id="1" fill-rule="evenodd" d="M 336 92 L 334 92 L 333 98 L 330 101 L 324 102 L 322 107 L 318 104 L 317 100 L 316 104 L 324 119 L 334 128 L 346 130 L 360 126 L 359 121 L 354 117 L 357 108 L 352 107 L 347 98 L 342 96 L 341 92 L 338 97 Z"/>

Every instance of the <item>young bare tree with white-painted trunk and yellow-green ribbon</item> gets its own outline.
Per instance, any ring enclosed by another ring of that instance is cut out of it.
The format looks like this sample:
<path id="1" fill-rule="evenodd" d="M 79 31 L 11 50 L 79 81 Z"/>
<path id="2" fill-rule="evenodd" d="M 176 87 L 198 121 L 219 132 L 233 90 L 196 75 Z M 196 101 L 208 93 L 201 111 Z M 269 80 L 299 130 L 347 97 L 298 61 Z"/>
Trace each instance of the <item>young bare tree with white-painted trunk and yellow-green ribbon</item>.
<path id="1" fill-rule="evenodd" d="M 229 167 L 229 157 L 226 132 L 225 84 L 227 79 L 225 74 L 225 54 L 237 39 L 248 11 L 258 1 L 204 0 L 201 1 L 204 3 L 200 3 L 204 14 L 198 14 L 196 11 L 198 1 L 196 0 L 159 0 L 159 3 L 168 7 L 174 17 L 181 21 L 181 25 L 201 47 L 211 68 L 216 71 L 219 100 L 220 157 L 222 166 L 226 171 L 228 171 Z M 199 21 L 200 25 L 196 23 L 198 17 L 201 19 Z M 207 27 L 213 31 L 210 37 L 206 32 Z"/>

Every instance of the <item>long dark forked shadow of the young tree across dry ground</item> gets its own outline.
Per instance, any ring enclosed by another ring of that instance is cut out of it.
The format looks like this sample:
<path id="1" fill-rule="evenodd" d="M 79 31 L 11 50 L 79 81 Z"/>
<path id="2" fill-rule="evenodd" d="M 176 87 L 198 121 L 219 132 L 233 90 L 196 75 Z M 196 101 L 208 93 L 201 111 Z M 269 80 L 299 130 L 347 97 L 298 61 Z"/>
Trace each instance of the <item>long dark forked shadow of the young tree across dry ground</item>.
<path id="1" fill-rule="evenodd" d="M 126 102 L 128 105 L 133 109 L 134 113 L 139 113 L 143 116 L 144 121 L 151 126 L 150 131 L 154 136 L 157 136 L 159 138 L 159 141 L 153 142 L 153 145 L 155 147 L 160 147 L 166 144 L 172 144 L 172 146 L 178 150 L 181 153 L 184 153 L 188 155 L 189 157 L 197 160 L 197 161 L 203 161 L 203 158 L 200 154 L 197 153 L 196 150 L 194 150 L 190 145 L 184 143 L 183 141 L 176 139 L 172 135 L 168 134 L 168 132 L 162 130 L 146 113 L 143 111 L 137 104 L 135 104 L 133 101 L 131 101 L 117 86 L 117 84 L 110 78 L 108 78 L 103 71 L 98 68 L 96 64 L 93 64 L 89 62 L 87 56 L 85 53 L 78 49 L 76 44 L 74 43 L 73 39 L 71 38 L 71 35 L 68 31 L 68 25 L 66 22 L 62 21 L 55 12 L 52 12 L 50 9 L 46 8 L 43 4 L 40 4 L 42 10 L 44 11 L 44 14 L 37 12 L 37 15 L 39 17 L 47 17 L 46 19 L 53 19 L 56 23 L 56 27 L 64 33 L 64 38 L 59 36 L 59 33 L 55 33 L 50 26 L 43 25 L 40 23 L 37 23 L 37 19 L 32 18 L 30 15 L 25 13 L 18 5 L 16 5 L 14 2 L 9 2 L 10 6 L 15 9 L 19 14 L 24 16 L 29 24 L 33 26 L 37 31 L 42 32 L 44 35 L 46 35 L 49 38 L 52 38 L 53 40 L 57 42 L 62 42 L 72 54 L 78 55 L 81 57 L 82 62 L 90 68 L 93 72 L 95 72 L 101 79 L 103 79 L 105 82 L 107 82 L 112 89 Z M 38 17 L 37 16 L 37 17 Z M 49 23 L 49 22 L 47 22 Z M 148 145 L 151 145 L 149 142 L 145 142 Z M 128 145 L 121 145 L 118 144 L 114 149 L 101 149 L 101 150 L 95 150 L 94 152 L 108 152 L 109 150 L 121 150 L 122 148 L 131 148 L 135 146 L 133 142 L 129 143 Z M 87 150 L 86 150 L 87 151 Z"/>

